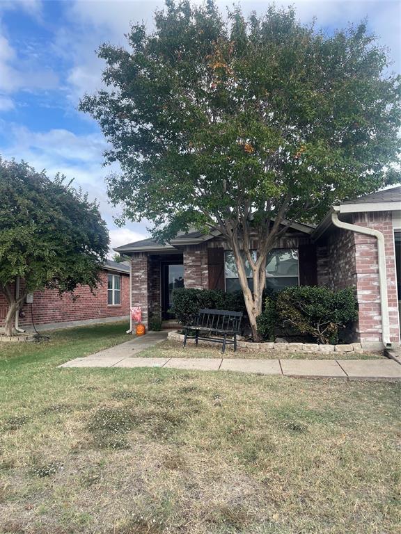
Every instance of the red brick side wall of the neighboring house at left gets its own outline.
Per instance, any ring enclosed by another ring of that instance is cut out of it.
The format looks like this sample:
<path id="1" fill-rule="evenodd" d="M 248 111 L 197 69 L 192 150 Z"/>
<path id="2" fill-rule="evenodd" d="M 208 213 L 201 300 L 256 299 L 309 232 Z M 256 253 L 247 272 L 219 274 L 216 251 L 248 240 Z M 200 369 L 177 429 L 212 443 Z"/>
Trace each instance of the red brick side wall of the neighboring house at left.
<path id="1" fill-rule="evenodd" d="M 118 274 L 118 273 L 113 273 Z M 94 294 L 88 286 L 80 286 L 74 292 L 75 300 L 70 293 L 58 295 L 56 289 L 45 289 L 33 293 L 33 321 L 36 325 L 45 323 L 68 323 L 104 317 L 119 317 L 129 314 L 129 276 L 121 273 L 121 304 L 107 305 L 107 275 L 102 271 L 100 284 Z M 0 294 L 0 326 L 4 325 L 8 305 L 6 298 Z M 31 307 L 24 305 L 19 318 L 19 325 L 31 325 Z"/>

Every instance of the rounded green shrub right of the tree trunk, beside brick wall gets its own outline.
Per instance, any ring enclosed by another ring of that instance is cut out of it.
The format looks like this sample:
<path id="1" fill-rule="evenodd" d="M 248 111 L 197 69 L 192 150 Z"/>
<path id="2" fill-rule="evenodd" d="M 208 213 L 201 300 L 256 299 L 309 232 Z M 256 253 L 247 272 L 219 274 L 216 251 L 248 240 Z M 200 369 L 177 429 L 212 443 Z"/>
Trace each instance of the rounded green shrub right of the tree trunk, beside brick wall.
<path id="1" fill-rule="evenodd" d="M 358 317 L 352 288 L 288 287 L 277 296 L 278 318 L 320 343 L 337 343 L 338 332 Z"/>

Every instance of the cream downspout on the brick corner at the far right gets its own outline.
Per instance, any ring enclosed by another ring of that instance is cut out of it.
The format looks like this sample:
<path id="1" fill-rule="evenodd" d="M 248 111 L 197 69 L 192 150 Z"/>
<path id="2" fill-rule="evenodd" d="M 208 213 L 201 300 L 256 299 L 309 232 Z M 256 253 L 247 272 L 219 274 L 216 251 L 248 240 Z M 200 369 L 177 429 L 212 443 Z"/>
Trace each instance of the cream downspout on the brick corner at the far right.
<path id="1" fill-rule="evenodd" d="M 388 298 L 387 298 L 387 275 L 386 275 L 386 252 L 384 249 L 384 236 L 379 230 L 367 228 L 364 226 L 352 225 L 345 223 L 338 218 L 339 208 L 333 206 L 331 212 L 331 222 L 338 228 L 357 232 L 358 234 L 365 234 L 366 236 L 374 236 L 377 238 L 377 257 L 379 264 L 379 292 L 380 292 L 380 308 L 382 311 L 382 341 L 385 347 L 391 347 L 390 341 L 390 320 L 388 318 Z"/>

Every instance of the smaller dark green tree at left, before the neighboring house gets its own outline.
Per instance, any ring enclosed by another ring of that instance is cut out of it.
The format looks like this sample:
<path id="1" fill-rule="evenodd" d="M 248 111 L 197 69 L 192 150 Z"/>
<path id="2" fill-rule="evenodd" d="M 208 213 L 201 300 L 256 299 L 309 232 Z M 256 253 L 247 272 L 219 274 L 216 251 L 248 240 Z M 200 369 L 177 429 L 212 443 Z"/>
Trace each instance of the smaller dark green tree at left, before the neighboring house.
<path id="1" fill-rule="evenodd" d="M 8 301 L 6 335 L 27 293 L 77 285 L 95 288 L 109 247 L 96 202 L 56 176 L 0 158 L 0 292 Z M 17 277 L 24 280 L 19 296 Z"/>

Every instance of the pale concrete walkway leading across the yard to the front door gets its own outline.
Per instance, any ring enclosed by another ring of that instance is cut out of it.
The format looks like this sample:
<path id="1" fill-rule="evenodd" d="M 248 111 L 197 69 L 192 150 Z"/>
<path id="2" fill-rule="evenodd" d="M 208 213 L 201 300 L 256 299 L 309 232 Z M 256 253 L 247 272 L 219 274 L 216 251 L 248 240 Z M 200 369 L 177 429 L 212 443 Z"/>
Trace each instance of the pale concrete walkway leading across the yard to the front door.
<path id="1" fill-rule="evenodd" d="M 61 365 L 70 367 L 164 367 L 194 371 L 239 371 L 261 375 L 306 378 L 401 380 L 401 365 L 392 359 L 248 359 L 143 358 L 142 350 L 166 339 L 166 332 L 150 332 L 115 347 Z"/>

